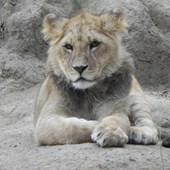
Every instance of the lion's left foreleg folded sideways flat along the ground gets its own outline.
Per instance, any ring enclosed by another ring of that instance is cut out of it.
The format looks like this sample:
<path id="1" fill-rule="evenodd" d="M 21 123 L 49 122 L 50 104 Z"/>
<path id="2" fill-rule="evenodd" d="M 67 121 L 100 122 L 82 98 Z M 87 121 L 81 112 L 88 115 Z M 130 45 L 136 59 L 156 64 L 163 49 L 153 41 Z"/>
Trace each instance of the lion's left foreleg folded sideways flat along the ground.
<path id="1" fill-rule="evenodd" d="M 40 145 L 89 142 L 95 125 L 95 121 L 51 114 L 38 120 L 35 137 Z"/>

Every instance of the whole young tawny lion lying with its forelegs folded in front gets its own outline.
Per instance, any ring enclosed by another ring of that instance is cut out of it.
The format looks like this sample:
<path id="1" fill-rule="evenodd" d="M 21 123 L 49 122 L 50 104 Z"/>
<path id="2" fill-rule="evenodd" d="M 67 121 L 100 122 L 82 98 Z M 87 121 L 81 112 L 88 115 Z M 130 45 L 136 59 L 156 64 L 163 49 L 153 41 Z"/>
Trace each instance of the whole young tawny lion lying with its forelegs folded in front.
<path id="1" fill-rule="evenodd" d="M 121 44 L 126 26 L 120 10 L 101 16 L 82 12 L 71 19 L 45 17 L 48 75 L 34 112 L 40 145 L 157 143 L 133 61 Z"/>

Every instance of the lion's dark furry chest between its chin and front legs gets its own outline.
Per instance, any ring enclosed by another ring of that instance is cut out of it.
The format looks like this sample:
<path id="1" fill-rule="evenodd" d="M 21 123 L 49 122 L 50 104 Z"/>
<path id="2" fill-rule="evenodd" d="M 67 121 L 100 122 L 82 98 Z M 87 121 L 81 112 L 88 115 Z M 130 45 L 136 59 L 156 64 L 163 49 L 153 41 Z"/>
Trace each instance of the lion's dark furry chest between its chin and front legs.
<path id="1" fill-rule="evenodd" d="M 106 79 L 97 87 L 87 90 L 67 91 L 66 113 L 88 120 L 120 112 L 124 108 L 124 98 L 129 95 L 130 74 L 118 74 Z"/>

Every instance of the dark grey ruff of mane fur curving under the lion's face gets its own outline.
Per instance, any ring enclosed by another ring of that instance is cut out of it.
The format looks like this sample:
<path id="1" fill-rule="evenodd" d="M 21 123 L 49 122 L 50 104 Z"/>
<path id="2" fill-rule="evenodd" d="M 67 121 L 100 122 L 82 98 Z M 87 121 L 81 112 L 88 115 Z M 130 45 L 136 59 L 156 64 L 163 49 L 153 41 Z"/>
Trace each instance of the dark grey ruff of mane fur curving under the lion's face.
<path id="1" fill-rule="evenodd" d="M 65 77 L 53 74 L 56 86 L 63 92 L 66 108 L 72 111 L 86 110 L 90 112 L 93 105 L 102 100 L 116 101 L 129 94 L 133 73 L 132 60 L 128 58 L 122 66 L 110 77 L 99 81 L 94 87 L 75 89 Z M 80 111 L 79 111 L 80 112 Z"/>

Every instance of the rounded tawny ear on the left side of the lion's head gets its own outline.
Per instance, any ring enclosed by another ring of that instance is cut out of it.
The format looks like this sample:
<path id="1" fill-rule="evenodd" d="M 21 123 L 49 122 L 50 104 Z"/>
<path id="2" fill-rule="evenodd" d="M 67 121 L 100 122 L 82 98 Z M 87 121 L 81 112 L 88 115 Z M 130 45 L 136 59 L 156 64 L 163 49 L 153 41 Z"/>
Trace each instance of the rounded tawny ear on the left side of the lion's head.
<path id="1" fill-rule="evenodd" d="M 57 39 L 62 34 L 62 29 L 67 23 L 68 19 L 58 18 L 55 14 L 48 14 L 43 20 L 42 33 L 44 35 L 44 40 L 50 41 Z"/>

